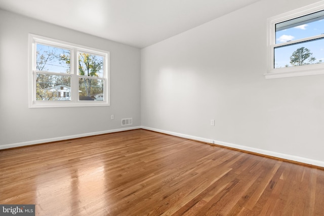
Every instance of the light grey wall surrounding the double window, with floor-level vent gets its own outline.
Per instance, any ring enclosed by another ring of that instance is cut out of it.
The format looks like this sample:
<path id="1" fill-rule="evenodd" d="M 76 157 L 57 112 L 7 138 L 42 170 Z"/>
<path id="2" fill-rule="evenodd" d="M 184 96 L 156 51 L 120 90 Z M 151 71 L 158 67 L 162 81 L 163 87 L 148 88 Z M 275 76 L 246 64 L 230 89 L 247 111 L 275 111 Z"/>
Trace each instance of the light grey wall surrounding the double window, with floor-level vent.
<path id="1" fill-rule="evenodd" d="M 109 51 L 110 106 L 28 108 L 28 33 Z M 140 50 L 0 10 L 0 95 L 0 149 L 140 126 Z"/>

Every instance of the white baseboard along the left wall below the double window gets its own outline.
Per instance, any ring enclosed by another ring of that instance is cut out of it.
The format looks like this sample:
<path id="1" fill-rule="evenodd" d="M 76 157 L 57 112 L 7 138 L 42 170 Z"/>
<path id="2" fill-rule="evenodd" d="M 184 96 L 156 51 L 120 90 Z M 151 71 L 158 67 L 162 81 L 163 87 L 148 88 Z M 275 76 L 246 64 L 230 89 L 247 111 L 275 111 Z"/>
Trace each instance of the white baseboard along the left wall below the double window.
<path id="1" fill-rule="evenodd" d="M 121 131 L 130 131 L 132 129 L 139 129 L 139 128 L 141 128 L 141 126 L 125 127 L 125 128 L 119 128 L 119 129 L 111 129 L 108 131 L 100 131 L 100 132 L 93 132 L 93 133 L 87 133 L 87 134 L 76 134 L 76 135 L 71 135 L 71 136 L 55 137 L 55 138 L 49 138 L 49 139 L 43 139 L 43 140 L 33 140 L 33 141 L 22 142 L 22 143 L 13 143 L 13 144 L 7 144 L 7 145 L 0 145 L 0 149 L 9 149 L 9 148 L 29 146 L 29 145 L 35 145 L 35 144 L 41 144 L 41 143 L 49 143 L 49 142 L 55 142 L 55 141 L 61 141 L 61 140 L 69 140 L 69 139 L 75 139 L 75 138 L 81 138 L 81 137 L 109 134 L 109 133 L 115 133 L 115 132 L 121 132 Z"/>

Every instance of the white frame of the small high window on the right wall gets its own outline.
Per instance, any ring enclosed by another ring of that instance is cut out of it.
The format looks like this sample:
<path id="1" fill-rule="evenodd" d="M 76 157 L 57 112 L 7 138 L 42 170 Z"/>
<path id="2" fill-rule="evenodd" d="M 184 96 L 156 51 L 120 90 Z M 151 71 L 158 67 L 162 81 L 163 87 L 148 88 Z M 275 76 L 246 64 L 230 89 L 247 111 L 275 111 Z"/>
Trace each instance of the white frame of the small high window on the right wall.
<path id="1" fill-rule="evenodd" d="M 324 38 L 324 34 L 276 44 L 275 24 L 324 10 L 324 1 L 290 11 L 268 19 L 267 23 L 267 73 L 266 79 L 324 74 L 324 63 L 274 68 L 274 48 L 311 39 Z"/>

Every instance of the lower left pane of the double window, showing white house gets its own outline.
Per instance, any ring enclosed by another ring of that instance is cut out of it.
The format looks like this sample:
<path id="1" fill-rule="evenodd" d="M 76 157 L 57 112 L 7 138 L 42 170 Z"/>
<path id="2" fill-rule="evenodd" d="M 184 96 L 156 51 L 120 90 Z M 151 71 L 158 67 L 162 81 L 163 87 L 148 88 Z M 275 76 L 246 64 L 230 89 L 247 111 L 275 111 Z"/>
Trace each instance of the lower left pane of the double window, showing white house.
<path id="1" fill-rule="evenodd" d="M 71 77 L 37 73 L 36 100 L 70 101 Z"/>

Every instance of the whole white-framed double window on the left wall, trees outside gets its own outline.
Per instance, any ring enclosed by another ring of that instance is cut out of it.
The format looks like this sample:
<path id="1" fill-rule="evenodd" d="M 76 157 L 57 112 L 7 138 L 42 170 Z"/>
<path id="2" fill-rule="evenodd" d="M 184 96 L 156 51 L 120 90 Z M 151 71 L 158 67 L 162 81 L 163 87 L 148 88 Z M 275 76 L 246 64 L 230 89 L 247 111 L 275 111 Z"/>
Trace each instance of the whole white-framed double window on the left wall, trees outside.
<path id="1" fill-rule="evenodd" d="M 30 34 L 29 107 L 108 106 L 109 53 Z"/>

